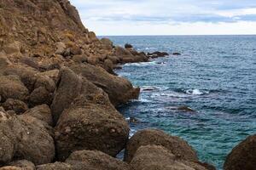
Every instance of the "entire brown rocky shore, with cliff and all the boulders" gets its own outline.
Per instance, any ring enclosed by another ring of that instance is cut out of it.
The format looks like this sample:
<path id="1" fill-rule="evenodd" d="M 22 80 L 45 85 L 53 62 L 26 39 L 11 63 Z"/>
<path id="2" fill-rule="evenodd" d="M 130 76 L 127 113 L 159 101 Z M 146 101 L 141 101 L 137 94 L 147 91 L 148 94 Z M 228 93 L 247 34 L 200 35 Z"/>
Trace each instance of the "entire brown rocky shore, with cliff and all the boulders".
<path id="1" fill-rule="evenodd" d="M 140 88 L 113 69 L 166 55 L 98 39 L 67 0 L 0 1 L 0 170 L 215 169 L 160 130 L 129 139 L 116 110 Z M 255 145 L 236 146 L 224 169 L 255 169 Z"/>

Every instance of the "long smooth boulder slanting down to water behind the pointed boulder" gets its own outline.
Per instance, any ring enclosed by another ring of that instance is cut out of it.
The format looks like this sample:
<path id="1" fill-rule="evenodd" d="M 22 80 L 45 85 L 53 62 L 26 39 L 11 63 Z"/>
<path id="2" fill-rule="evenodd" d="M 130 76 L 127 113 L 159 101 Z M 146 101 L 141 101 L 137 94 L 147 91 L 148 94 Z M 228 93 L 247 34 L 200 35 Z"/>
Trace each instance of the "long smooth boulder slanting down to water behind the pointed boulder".
<path id="1" fill-rule="evenodd" d="M 93 82 L 98 88 L 102 88 L 115 106 L 125 104 L 130 99 L 137 99 L 139 96 L 139 88 L 133 88 L 131 82 L 125 78 L 111 75 L 101 67 L 86 64 L 73 65 L 71 69 Z"/>

